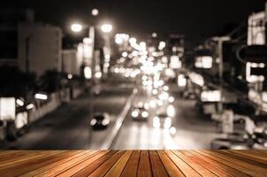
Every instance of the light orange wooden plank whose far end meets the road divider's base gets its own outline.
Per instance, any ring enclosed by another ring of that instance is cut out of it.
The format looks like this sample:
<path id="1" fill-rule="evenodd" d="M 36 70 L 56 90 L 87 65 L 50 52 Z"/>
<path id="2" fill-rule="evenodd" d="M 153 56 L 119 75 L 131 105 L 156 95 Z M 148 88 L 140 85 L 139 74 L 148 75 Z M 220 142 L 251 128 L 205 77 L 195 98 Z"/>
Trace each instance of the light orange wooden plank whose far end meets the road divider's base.
<path id="1" fill-rule="evenodd" d="M 73 174 L 79 172 L 80 170 L 82 170 L 86 166 L 88 166 L 88 165 L 92 164 L 93 162 L 95 162 L 95 160 L 97 160 L 98 158 L 103 157 L 108 152 L 109 152 L 109 150 L 99 150 L 96 154 L 90 156 L 87 159 L 84 159 L 78 165 L 72 165 L 71 168 L 67 169 L 64 173 L 58 174 L 57 176 L 58 177 L 72 176 Z"/>

